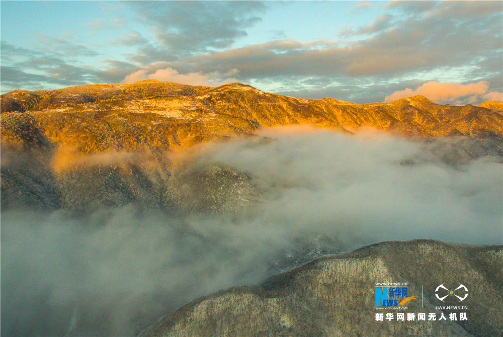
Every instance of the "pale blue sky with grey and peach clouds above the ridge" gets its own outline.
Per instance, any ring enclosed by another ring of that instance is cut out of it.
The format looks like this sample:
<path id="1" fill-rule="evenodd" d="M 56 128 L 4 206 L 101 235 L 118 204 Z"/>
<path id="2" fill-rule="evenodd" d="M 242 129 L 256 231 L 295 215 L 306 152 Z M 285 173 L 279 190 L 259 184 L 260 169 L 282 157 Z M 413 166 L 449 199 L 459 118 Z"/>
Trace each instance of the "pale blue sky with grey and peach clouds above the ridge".
<path id="1" fill-rule="evenodd" d="M 2 93 L 146 78 L 502 100 L 503 2 L 2 1 Z"/>

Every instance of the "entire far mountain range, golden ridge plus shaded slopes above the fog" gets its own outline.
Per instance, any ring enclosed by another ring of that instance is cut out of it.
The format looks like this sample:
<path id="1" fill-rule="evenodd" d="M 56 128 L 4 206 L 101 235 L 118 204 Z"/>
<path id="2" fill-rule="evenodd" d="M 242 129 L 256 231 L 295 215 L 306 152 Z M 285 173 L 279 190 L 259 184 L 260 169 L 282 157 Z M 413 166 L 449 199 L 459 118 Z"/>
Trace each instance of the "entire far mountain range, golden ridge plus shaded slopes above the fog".
<path id="1" fill-rule="evenodd" d="M 210 88 L 144 80 L 13 91 L 1 97 L 1 116 L 3 207 L 86 210 L 140 202 L 160 208 L 239 208 L 258 194 L 246 175 L 220 166 L 177 178 L 169 153 L 255 137 L 274 126 L 465 139 L 460 149 L 444 155 L 450 162 L 503 154 L 503 104 L 495 101 L 450 106 L 414 96 L 355 104 L 281 96 L 241 83 Z M 198 179 L 205 183 L 193 186 Z M 199 191 L 197 197 L 180 194 L 187 183 Z M 219 189 L 222 184 L 227 188 Z M 242 200 L 229 201 L 237 188 Z"/>

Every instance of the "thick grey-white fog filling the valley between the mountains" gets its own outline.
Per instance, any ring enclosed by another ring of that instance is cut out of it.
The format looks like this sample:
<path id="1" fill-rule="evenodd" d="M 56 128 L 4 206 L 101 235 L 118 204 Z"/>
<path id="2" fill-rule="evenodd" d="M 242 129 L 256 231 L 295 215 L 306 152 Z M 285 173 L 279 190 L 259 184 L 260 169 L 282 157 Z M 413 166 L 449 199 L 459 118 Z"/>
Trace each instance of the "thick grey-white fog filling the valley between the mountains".
<path id="1" fill-rule="evenodd" d="M 261 197 L 238 212 L 3 209 L 2 335 L 134 335 L 201 295 L 382 240 L 501 243 L 501 157 L 471 158 L 463 138 L 261 135 L 179 155 L 178 170 L 250 177 Z"/>

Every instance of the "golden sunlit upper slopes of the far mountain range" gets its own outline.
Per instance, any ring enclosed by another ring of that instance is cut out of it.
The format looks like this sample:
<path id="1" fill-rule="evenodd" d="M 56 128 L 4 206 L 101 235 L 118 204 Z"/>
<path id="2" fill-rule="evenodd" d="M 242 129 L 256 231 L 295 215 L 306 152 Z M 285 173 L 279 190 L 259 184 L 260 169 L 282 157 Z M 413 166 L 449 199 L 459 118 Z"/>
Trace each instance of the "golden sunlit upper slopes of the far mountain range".
<path id="1" fill-rule="evenodd" d="M 493 105 L 488 107 L 492 108 Z M 354 104 L 296 99 L 240 83 L 218 88 L 145 80 L 2 95 L 3 144 L 48 142 L 79 153 L 186 148 L 261 127 L 310 124 L 345 132 L 373 127 L 406 136 L 503 135 L 497 110 L 437 105 L 421 96 Z"/>

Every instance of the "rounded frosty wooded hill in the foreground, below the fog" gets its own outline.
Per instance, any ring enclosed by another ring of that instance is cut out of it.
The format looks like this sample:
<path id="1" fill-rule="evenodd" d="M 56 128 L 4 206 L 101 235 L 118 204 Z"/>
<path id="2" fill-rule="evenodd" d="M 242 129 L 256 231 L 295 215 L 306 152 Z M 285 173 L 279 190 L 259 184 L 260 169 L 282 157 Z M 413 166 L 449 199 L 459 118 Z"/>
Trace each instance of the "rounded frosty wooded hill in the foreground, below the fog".
<path id="1" fill-rule="evenodd" d="M 435 240 L 388 241 L 318 258 L 257 287 L 232 287 L 160 318 L 140 336 L 496 336 L 503 332 L 503 246 Z M 376 310 L 375 282 L 406 282 L 416 300 L 403 310 Z M 468 288 L 463 302 L 435 297 L 440 284 Z M 421 291 L 424 287 L 424 307 Z M 436 306 L 447 320 L 438 320 Z M 393 312 L 391 321 L 376 313 Z M 397 321 L 396 313 L 426 313 L 425 321 Z M 435 312 L 437 320 L 428 320 Z M 449 313 L 466 312 L 467 320 Z"/>

